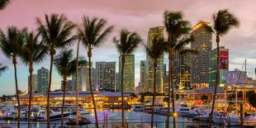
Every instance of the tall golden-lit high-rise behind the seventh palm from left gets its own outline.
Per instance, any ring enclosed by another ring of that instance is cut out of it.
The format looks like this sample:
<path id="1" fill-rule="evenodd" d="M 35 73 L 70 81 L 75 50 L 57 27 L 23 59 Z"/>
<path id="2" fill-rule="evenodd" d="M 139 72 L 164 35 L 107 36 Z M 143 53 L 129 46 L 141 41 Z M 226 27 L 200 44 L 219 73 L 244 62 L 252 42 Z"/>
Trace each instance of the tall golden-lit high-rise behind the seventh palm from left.
<path id="1" fill-rule="evenodd" d="M 148 31 L 147 46 L 153 44 L 154 37 L 164 38 L 164 26 L 152 27 Z M 146 55 L 146 92 L 153 92 L 154 85 L 154 60 Z M 163 92 L 164 79 L 164 55 L 159 57 L 159 64 L 156 71 L 156 92 Z"/>

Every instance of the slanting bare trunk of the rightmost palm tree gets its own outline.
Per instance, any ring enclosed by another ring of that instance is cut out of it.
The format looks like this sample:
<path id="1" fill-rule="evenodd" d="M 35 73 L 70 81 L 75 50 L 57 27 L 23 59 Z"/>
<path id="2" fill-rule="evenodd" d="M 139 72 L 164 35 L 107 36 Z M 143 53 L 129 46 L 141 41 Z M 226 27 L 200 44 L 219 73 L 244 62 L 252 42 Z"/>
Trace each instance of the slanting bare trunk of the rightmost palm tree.
<path id="1" fill-rule="evenodd" d="M 215 107 L 215 102 L 216 102 L 216 92 L 217 92 L 217 87 L 219 85 L 219 81 L 220 81 L 220 65 L 219 65 L 219 60 L 220 60 L 220 36 L 217 34 L 216 36 L 216 43 L 217 43 L 217 69 L 216 69 L 216 84 L 214 87 L 214 93 L 213 93 L 213 100 L 212 100 L 212 106 L 211 106 L 211 113 L 210 113 L 210 122 L 209 122 L 209 126 L 211 127 L 211 121 L 212 121 L 212 115 L 213 115 L 213 111 L 214 111 L 214 107 Z"/>

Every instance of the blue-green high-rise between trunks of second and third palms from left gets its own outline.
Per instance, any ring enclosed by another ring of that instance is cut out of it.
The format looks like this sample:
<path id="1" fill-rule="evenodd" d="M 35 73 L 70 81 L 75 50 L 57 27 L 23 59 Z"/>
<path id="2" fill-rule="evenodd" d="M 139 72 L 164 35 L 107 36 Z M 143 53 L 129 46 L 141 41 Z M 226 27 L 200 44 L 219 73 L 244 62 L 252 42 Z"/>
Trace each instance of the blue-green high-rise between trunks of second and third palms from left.
<path id="1" fill-rule="evenodd" d="M 36 92 L 48 92 L 48 83 L 49 83 L 49 71 L 44 67 L 37 70 L 37 88 Z"/>

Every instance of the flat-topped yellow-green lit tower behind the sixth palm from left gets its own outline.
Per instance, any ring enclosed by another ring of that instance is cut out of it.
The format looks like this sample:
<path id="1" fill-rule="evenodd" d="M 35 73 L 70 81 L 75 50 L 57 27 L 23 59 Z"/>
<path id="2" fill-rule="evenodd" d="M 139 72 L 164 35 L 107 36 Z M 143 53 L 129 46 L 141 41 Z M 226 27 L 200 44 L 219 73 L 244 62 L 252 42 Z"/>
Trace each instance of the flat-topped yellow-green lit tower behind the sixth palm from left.
<path id="1" fill-rule="evenodd" d="M 121 91 L 121 55 L 119 56 L 119 91 Z M 135 91 L 135 55 L 126 55 L 124 67 L 124 91 Z"/>

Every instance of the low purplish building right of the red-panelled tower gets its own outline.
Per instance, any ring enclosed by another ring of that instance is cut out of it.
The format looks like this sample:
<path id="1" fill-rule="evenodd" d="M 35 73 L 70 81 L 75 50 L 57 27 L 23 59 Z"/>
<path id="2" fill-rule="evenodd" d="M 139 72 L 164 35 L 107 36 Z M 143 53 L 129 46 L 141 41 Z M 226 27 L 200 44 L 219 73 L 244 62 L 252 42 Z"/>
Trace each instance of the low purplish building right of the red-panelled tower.
<path id="1" fill-rule="evenodd" d="M 227 77 L 228 84 L 245 84 L 246 83 L 246 72 L 239 69 L 229 71 Z"/>

